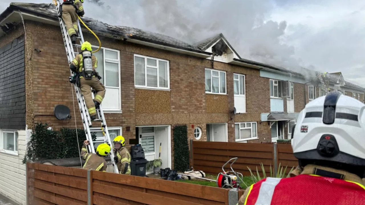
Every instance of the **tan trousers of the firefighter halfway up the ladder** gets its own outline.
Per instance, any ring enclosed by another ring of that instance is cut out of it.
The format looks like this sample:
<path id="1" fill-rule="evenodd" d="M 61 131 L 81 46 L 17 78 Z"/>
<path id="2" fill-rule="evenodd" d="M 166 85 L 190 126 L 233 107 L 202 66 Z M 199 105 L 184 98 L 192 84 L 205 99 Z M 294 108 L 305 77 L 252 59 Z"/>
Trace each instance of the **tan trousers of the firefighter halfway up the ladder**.
<path id="1" fill-rule="evenodd" d="M 86 80 L 85 78 L 80 78 L 80 89 L 81 93 L 84 96 L 86 107 L 89 110 L 90 116 L 96 115 L 95 104 L 91 96 L 91 88 L 96 91 L 96 95 L 94 100 L 101 104 L 103 98 L 105 96 L 105 86 L 97 79 L 95 76 L 90 80 Z"/>

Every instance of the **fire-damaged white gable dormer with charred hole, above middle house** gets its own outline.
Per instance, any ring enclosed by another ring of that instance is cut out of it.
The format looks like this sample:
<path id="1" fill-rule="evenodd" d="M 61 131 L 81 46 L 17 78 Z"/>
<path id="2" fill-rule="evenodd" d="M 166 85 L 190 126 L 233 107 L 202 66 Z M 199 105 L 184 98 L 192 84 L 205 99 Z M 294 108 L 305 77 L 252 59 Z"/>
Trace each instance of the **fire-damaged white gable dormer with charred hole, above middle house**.
<path id="1" fill-rule="evenodd" d="M 207 38 L 195 43 L 195 45 L 205 52 L 213 53 L 214 61 L 229 63 L 235 58 L 241 59 L 230 43 L 228 43 L 227 39 L 224 38 L 223 34 Z M 211 60 L 212 56 L 207 59 Z"/>

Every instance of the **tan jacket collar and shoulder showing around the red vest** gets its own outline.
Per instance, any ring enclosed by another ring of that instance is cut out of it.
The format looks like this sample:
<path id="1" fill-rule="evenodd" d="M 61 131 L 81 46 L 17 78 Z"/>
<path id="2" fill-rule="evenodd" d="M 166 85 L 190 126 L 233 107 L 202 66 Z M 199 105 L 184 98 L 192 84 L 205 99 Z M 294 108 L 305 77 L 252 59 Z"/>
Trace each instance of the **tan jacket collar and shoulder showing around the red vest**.
<path id="1" fill-rule="evenodd" d="M 330 171 L 330 172 L 337 173 L 337 174 L 343 174 L 344 175 L 343 180 L 357 182 L 357 183 L 360 183 L 361 185 L 365 186 L 365 178 L 361 179 L 358 175 L 349 173 L 347 171 L 333 169 L 330 167 L 318 166 L 318 165 L 307 165 L 304 168 L 297 166 L 296 169 L 294 169 L 289 175 L 290 175 L 290 177 L 295 177 L 299 174 L 316 174 L 315 168 L 325 170 L 325 171 Z M 249 190 L 250 190 L 250 187 L 247 187 L 245 189 L 245 193 L 243 193 L 241 198 L 239 198 L 239 200 L 238 200 L 238 205 L 245 204 L 245 200 L 246 200 L 247 194 L 249 193 Z"/>

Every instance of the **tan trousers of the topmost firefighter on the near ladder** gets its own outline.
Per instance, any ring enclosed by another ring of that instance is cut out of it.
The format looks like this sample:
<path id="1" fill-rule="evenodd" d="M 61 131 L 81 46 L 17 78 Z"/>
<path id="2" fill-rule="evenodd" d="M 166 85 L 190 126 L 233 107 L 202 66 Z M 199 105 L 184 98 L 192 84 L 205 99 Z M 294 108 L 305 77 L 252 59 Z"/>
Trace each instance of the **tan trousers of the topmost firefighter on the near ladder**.
<path id="1" fill-rule="evenodd" d="M 66 29 L 69 36 L 76 34 L 77 28 L 77 13 L 72 4 L 62 4 L 62 19 L 66 24 Z"/>

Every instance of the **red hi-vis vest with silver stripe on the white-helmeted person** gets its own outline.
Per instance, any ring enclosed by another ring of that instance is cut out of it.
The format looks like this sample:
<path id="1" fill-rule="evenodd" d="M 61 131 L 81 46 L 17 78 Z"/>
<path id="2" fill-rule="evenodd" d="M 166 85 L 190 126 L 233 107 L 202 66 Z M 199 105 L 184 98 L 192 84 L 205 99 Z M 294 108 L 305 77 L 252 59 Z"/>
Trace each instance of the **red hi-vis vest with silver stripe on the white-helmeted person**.
<path id="1" fill-rule="evenodd" d="M 365 187 L 318 175 L 268 177 L 250 186 L 245 205 L 365 205 Z"/>

